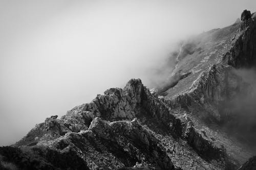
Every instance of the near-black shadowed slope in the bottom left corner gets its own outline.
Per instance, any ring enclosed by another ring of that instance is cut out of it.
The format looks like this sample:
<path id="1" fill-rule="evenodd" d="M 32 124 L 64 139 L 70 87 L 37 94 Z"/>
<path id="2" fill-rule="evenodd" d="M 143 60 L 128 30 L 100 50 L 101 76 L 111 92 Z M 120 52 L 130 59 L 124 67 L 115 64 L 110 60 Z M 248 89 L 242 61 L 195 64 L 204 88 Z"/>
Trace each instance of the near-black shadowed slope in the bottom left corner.
<path id="1" fill-rule="evenodd" d="M 71 148 L 57 152 L 46 146 L 29 150 L 1 147 L 1 169 L 89 169 Z"/>

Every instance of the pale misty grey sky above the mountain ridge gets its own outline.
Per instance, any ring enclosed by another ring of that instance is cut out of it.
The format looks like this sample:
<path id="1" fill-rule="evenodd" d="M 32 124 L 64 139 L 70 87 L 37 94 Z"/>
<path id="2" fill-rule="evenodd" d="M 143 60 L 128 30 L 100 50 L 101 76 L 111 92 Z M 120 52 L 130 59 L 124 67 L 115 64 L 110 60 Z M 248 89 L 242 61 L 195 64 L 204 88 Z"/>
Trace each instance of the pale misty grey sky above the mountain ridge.
<path id="1" fill-rule="evenodd" d="M 180 39 L 244 9 L 256 1 L 0 0 L 0 145 L 131 78 L 152 87 Z"/>

